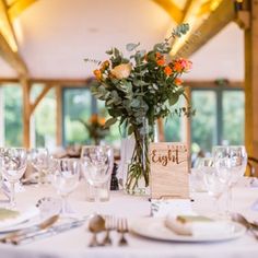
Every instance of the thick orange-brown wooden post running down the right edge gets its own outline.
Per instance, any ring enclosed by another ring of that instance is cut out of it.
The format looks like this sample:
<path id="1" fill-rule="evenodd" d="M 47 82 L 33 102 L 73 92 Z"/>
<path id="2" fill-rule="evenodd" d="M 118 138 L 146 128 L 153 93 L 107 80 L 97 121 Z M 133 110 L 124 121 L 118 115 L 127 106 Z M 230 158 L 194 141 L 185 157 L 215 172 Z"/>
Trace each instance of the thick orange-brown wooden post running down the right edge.
<path id="1" fill-rule="evenodd" d="M 250 27 L 245 31 L 245 143 L 248 155 L 258 159 L 258 0 L 250 0 L 248 8 Z"/>

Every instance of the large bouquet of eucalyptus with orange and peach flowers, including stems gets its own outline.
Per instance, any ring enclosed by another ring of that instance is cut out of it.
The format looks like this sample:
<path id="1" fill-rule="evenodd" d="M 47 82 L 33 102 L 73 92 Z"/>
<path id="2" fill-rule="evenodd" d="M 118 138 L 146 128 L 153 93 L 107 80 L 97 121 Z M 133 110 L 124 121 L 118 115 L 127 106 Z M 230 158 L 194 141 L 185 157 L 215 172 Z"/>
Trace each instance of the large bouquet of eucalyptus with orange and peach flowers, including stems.
<path id="1" fill-rule="evenodd" d="M 149 185 L 148 140 L 153 139 L 153 126 L 159 118 L 171 114 L 190 116 L 190 105 L 173 109 L 180 96 L 185 96 L 181 74 L 191 69 L 191 61 L 169 56 L 172 42 L 189 30 L 188 24 L 178 25 L 164 42 L 153 46 L 149 51 L 139 49 L 140 43 L 128 44 L 129 57 L 117 49 L 106 51 L 109 58 L 94 70 L 96 84 L 91 87 L 92 94 L 105 102 L 110 118 L 109 127 L 119 121 L 125 125 L 128 134 L 133 133 L 136 148 L 129 165 L 127 187 L 134 189 L 138 179 L 144 177 Z M 86 59 L 87 61 L 92 61 Z M 148 122 L 145 122 L 148 120 Z M 145 133 L 148 131 L 148 133 Z M 143 136 L 146 140 L 142 141 Z"/>

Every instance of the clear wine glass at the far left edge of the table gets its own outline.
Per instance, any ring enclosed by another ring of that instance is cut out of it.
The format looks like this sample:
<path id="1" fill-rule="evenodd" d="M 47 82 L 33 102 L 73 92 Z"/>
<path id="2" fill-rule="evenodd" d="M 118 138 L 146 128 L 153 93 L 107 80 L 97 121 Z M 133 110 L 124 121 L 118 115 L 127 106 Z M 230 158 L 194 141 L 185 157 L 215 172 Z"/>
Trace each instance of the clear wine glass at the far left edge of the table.
<path id="1" fill-rule="evenodd" d="M 10 183 L 10 206 L 15 208 L 15 183 L 25 173 L 27 165 L 27 153 L 24 148 L 7 148 L 0 157 L 2 176 Z"/>

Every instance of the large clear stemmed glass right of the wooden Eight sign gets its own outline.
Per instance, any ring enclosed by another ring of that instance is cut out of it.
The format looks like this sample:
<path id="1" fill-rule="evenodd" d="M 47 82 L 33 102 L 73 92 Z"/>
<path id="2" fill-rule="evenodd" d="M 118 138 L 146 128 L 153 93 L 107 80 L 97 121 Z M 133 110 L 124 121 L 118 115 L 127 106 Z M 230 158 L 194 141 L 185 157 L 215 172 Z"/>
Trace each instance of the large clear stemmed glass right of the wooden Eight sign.
<path id="1" fill-rule="evenodd" d="M 232 207 L 232 188 L 244 176 L 247 165 L 245 146 L 214 146 L 213 157 L 221 180 L 227 185 L 226 213 Z"/>

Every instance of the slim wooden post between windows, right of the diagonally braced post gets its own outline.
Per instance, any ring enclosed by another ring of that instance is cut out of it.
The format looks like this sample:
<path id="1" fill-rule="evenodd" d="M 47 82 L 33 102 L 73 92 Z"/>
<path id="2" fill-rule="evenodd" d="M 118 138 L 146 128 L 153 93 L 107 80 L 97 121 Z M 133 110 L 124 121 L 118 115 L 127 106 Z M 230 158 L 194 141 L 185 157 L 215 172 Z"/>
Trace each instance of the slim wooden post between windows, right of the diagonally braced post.
<path id="1" fill-rule="evenodd" d="M 60 85 L 56 86 L 56 144 L 62 145 L 62 89 Z"/>

